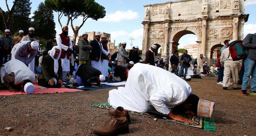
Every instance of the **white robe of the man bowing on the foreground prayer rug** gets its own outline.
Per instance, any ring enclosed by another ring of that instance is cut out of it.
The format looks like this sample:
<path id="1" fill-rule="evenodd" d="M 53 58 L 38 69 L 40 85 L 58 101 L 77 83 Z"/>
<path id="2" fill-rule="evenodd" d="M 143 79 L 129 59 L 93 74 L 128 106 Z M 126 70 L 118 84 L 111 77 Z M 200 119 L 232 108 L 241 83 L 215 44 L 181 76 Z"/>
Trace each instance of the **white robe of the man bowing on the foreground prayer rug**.
<path id="1" fill-rule="evenodd" d="M 108 102 L 113 107 L 137 112 L 146 112 L 154 106 L 158 112 L 169 114 L 169 108 L 185 102 L 190 94 L 190 85 L 175 74 L 136 63 L 129 71 L 125 87 L 109 91 Z"/>

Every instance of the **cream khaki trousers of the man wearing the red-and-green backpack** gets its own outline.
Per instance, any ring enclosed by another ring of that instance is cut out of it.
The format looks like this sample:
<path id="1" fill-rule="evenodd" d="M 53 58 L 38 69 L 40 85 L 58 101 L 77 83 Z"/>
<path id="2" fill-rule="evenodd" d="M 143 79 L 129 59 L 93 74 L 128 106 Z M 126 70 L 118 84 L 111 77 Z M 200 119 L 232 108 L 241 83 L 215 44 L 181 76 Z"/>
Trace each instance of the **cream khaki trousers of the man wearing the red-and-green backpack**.
<path id="1" fill-rule="evenodd" d="M 224 77 L 222 81 L 223 87 L 229 87 L 230 85 L 230 75 L 232 74 L 233 87 L 237 87 L 238 83 L 238 74 L 239 74 L 239 65 L 237 63 L 224 63 Z"/>

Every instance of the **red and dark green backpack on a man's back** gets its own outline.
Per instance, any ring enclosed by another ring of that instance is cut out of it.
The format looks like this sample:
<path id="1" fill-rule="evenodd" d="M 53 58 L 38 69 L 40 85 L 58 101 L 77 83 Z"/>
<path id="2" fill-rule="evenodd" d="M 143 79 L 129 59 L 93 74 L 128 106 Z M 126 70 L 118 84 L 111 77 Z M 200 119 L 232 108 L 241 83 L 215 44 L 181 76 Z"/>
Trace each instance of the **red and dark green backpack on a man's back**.
<path id="1" fill-rule="evenodd" d="M 231 55 L 233 61 L 241 60 L 248 55 L 248 49 L 244 47 L 242 40 L 235 40 L 229 44 L 229 55 Z"/>

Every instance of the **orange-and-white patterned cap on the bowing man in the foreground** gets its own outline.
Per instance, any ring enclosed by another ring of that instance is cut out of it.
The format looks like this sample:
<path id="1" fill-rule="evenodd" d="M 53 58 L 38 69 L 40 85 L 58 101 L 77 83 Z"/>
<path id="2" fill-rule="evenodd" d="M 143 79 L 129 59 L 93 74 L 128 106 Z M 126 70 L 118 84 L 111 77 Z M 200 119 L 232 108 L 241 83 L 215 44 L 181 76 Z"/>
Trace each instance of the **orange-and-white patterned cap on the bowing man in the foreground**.
<path id="1" fill-rule="evenodd" d="M 199 99 L 197 105 L 197 117 L 212 118 L 214 102 Z"/>

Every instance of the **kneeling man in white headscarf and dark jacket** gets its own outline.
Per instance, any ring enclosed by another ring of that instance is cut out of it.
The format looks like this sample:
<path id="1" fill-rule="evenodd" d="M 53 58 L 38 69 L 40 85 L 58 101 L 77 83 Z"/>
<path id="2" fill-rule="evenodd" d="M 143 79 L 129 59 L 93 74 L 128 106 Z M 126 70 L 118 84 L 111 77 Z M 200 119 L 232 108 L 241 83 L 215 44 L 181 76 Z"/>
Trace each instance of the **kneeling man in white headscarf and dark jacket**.
<path id="1" fill-rule="evenodd" d="M 50 50 L 50 54 L 43 57 L 38 85 L 46 88 L 61 88 L 63 86 L 61 51 L 60 46 L 54 46 Z"/>

